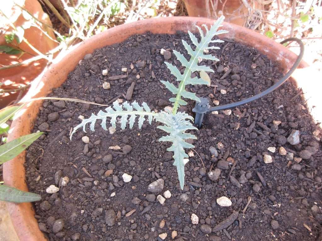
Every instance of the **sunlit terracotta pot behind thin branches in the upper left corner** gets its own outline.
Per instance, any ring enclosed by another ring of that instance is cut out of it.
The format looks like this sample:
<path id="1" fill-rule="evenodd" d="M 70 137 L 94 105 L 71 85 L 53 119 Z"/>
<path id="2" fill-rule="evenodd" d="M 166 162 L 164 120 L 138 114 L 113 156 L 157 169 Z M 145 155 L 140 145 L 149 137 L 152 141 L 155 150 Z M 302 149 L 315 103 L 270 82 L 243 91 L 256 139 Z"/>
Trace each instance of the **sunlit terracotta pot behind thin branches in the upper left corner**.
<path id="1" fill-rule="evenodd" d="M 16 1 L 20 6 L 23 6 L 27 9 L 33 16 L 37 17 L 42 22 L 51 26 L 52 23 L 46 13 L 43 12 L 43 9 L 37 0 L 18 0 Z M 10 22 L 14 24 L 15 27 L 20 27 L 29 20 L 26 20 L 22 14 L 22 10 L 17 6 L 14 7 L 13 1 L 8 1 L 5 7 L 1 7 L 5 14 L 10 18 Z M 9 45 L 15 47 L 13 44 L 6 44 L 5 35 L 12 31 L 12 28 L 7 24 L 7 19 L 4 17 L 0 19 L 1 26 L 4 29 L 4 33 L 0 36 L 0 45 Z M 46 32 L 52 39 L 55 39 L 55 35 L 51 28 L 43 25 L 42 29 Z M 49 50 L 54 49 L 58 46 L 56 42 L 47 37 L 40 29 L 37 27 L 30 27 L 25 29 L 24 38 L 28 42 L 38 49 L 41 53 L 45 54 Z M 15 41 L 15 40 L 14 40 Z M 15 42 L 16 43 L 16 42 Z M 10 55 L 6 53 L 0 53 L 0 66 L 11 65 L 19 62 L 23 62 L 26 59 L 32 58 L 33 55 L 37 56 L 38 54 L 33 51 L 24 41 L 20 43 L 19 47 L 24 51 L 30 53 L 25 53 L 21 58 L 18 59 L 19 55 Z M 32 55 L 31 55 L 32 54 Z M 18 67 L 13 67 L 5 70 L 0 70 L 0 82 L 5 82 L 5 85 L 2 85 L 1 88 L 6 90 L 16 89 L 20 84 L 27 85 L 35 77 L 37 77 L 47 65 L 47 60 L 40 59 L 34 61 L 27 65 L 21 65 Z M 14 94 L 4 93 L 0 95 L 0 109 L 5 107 L 10 102 L 16 100 L 19 92 Z"/>

